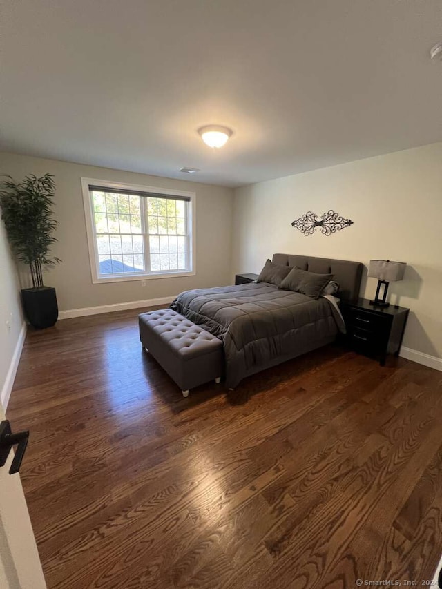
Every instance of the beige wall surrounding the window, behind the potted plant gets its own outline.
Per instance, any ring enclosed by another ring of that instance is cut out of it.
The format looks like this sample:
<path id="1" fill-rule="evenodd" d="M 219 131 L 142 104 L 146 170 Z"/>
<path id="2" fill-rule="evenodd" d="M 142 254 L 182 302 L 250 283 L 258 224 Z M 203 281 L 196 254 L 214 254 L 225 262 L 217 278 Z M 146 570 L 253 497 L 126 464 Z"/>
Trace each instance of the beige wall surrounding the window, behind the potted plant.
<path id="1" fill-rule="evenodd" d="M 28 174 L 55 175 L 55 211 L 60 224 L 54 253 L 63 262 L 46 275 L 45 283 L 56 287 L 61 310 L 175 296 L 184 290 L 231 282 L 231 189 L 12 153 L 0 153 L 0 170 L 15 180 Z M 141 286 L 141 281 L 92 284 L 81 177 L 194 191 L 196 276 L 146 280 L 146 287 Z"/>

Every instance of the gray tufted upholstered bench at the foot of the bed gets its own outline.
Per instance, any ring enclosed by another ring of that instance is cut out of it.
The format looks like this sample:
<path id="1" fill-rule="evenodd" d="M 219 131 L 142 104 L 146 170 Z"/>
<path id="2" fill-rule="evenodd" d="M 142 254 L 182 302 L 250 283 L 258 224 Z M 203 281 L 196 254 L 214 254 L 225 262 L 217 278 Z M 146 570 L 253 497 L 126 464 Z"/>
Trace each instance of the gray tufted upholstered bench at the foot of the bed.
<path id="1" fill-rule="evenodd" d="M 152 354 L 186 397 L 189 389 L 221 380 L 222 341 L 172 309 L 138 316 L 142 346 Z"/>

